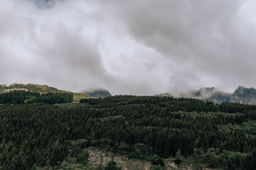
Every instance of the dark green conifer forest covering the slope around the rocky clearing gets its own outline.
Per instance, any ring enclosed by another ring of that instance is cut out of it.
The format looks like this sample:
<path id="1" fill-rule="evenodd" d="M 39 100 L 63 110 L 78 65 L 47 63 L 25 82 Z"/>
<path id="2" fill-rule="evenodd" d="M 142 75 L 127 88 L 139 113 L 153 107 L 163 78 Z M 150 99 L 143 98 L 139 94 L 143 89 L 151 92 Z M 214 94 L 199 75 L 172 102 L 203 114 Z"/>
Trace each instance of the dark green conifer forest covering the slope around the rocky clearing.
<path id="1" fill-rule="evenodd" d="M 53 94 L 11 94 L 0 96 L 0 169 L 65 169 L 68 157 L 92 169 L 82 152 L 89 146 L 149 159 L 159 169 L 161 160 L 172 158 L 198 167 L 256 169 L 254 105 L 152 96 L 45 102 L 54 101 Z"/>

